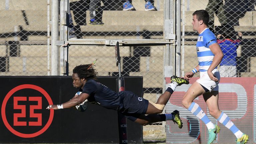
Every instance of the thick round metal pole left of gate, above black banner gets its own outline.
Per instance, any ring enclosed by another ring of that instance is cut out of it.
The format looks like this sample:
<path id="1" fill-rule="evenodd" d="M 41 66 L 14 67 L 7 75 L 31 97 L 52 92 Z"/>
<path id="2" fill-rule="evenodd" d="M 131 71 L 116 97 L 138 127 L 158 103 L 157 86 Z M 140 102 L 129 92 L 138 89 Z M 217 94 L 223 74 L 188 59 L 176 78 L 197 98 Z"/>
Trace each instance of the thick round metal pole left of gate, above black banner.
<path id="1" fill-rule="evenodd" d="M 51 55 L 51 75 L 59 75 L 59 0 L 52 0 L 52 55 Z"/>

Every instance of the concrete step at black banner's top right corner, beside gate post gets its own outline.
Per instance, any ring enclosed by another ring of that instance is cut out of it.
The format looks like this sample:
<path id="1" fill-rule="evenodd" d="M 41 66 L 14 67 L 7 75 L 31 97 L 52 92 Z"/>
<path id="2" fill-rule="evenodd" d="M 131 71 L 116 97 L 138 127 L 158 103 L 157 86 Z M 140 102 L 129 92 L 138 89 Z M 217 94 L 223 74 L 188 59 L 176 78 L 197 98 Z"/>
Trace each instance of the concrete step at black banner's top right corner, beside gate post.
<path id="1" fill-rule="evenodd" d="M 163 72 L 130 72 L 130 76 L 143 76 L 143 87 L 163 87 Z"/>

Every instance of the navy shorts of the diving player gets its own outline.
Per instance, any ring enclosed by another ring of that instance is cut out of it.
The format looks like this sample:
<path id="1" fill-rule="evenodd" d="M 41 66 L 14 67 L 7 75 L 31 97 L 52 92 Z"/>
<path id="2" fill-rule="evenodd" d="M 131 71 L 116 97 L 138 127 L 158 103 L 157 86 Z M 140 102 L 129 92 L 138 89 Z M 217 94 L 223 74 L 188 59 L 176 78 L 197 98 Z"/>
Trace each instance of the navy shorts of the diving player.
<path id="1" fill-rule="evenodd" d="M 120 112 L 129 120 L 135 121 L 141 114 L 146 114 L 148 109 L 148 100 L 138 97 L 130 91 L 122 91 L 119 94 L 125 95 L 124 107 Z"/>

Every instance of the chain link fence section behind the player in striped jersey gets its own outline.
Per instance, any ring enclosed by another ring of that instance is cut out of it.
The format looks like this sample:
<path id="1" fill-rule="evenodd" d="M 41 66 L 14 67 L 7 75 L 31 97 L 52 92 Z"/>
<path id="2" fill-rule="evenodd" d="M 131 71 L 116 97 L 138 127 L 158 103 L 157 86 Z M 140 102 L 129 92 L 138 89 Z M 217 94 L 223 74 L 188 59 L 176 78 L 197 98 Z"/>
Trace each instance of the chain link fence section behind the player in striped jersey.
<path id="1" fill-rule="evenodd" d="M 183 0 L 182 2 L 184 44 L 181 50 L 183 55 L 181 63 L 184 73 L 198 64 L 195 50 L 198 33 L 193 31 L 191 23 L 193 12 L 204 9 L 210 15 L 210 30 L 214 32 L 216 37 L 218 35 L 223 36 L 217 38 L 224 53 L 224 62 L 221 65 L 234 65 L 231 73 L 233 72 L 235 75 L 225 76 L 254 77 L 256 75 L 255 0 Z M 239 38 L 238 32 L 242 33 L 242 37 Z M 231 40 L 227 42 L 225 41 L 227 39 Z M 235 41 L 237 39 L 241 41 Z M 236 65 L 231 64 L 231 61 L 234 60 Z M 221 66 L 219 70 L 221 72 L 226 69 Z"/>

